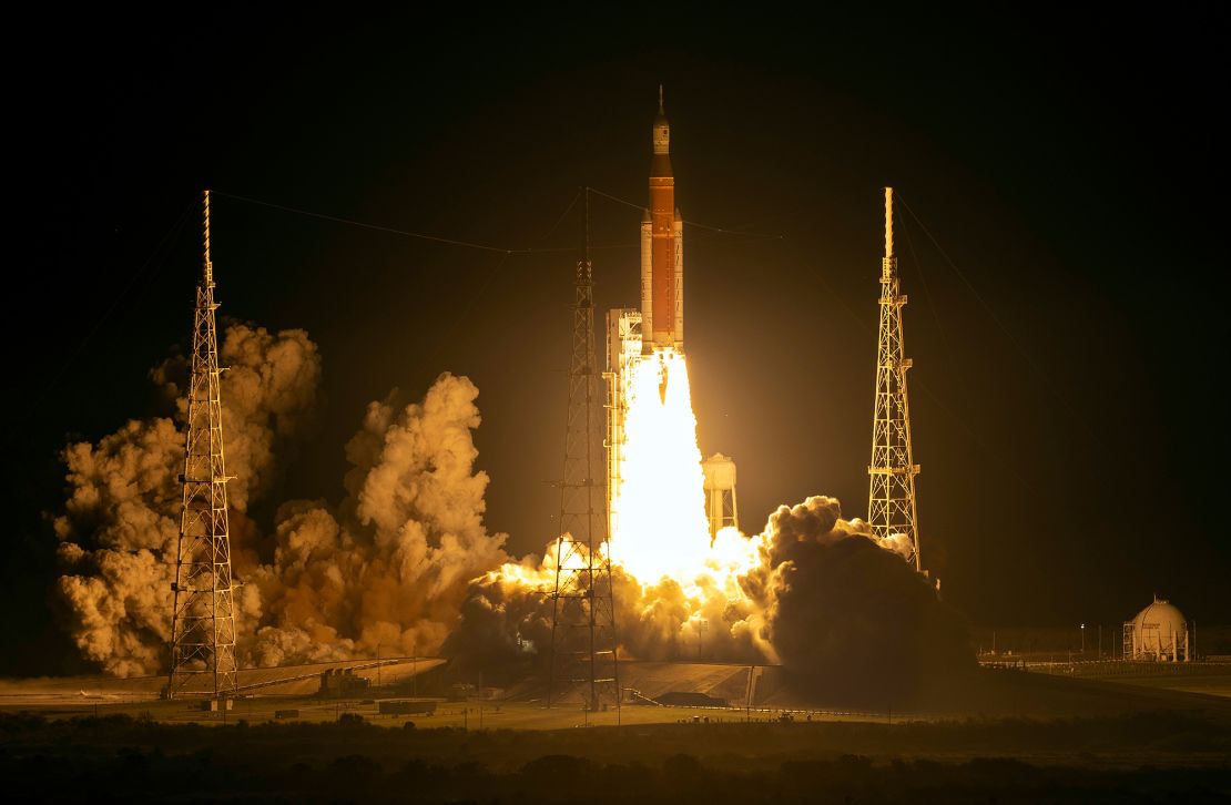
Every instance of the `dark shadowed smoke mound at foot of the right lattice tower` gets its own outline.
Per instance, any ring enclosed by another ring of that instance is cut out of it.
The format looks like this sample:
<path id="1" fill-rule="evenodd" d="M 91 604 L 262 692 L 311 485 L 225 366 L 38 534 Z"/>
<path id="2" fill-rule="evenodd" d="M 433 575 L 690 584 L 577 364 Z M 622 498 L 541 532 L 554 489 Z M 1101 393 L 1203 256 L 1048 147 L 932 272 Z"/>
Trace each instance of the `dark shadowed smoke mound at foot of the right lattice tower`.
<path id="1" fill-rule="evenodd" d="M 867 523 L 842 519 L 833 497 L 769 517 L 761 566 L 742 583 L 798 686 L 884 705 L 972 665 L 965 624 L 902 561 L 899 542 L 878 544 Z"/>

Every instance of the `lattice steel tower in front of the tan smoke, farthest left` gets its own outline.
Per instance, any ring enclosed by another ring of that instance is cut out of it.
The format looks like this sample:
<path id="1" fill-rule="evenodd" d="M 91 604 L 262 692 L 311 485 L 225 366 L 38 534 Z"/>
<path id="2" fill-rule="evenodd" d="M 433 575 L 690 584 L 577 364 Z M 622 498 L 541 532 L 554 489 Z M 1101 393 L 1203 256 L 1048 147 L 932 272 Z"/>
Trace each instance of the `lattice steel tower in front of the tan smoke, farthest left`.
<path id="1" fill-rule="evenodd" d="M 188 380 L 188 433 L 185 442 L 183 502 L 171 583 L 171 671 L 167 698 L 212 693 L 215 700 L 235 689 L 235 607 L 227 521 L 227 468 L 214 311 L 214 267 L 209 261 L 209 191 L 204 201 L 204 274 L 197 286 Z M 193 677 L 209 675 L 203 687 Z M 225 707 L 225 705 L 223 705 Z"/>

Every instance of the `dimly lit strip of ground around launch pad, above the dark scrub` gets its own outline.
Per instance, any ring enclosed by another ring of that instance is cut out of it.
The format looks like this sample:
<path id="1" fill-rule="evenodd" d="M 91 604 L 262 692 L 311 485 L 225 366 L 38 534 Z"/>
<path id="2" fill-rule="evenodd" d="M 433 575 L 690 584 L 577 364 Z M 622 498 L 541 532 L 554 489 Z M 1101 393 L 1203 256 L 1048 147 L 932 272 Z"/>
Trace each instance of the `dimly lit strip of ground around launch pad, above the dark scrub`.
<path id="1" fill-rule="evenodd" d="M 438 661 L 436 661 L 438 662 Z M 427 661 L 419 661 L 427 666 Z M 393 667 L 400 667 L 395 663 Z M 293 673 L 299 677 L 303 666 L 291 670 L 266 670 L 262 673 Z M 257 691 L 239 698 L 225 715 L 199 709 L 201 699 L 186 698 L 164 702 L 158 698 L 156 679 L 111 679 L 110 689 L 97 684 L 102 678 L 6 681 L 0 684 L 0 713 L 31 711 L 53 719 L 94 715 L 148 716 L 172 724 L 223 724 L 239 720 L 250 724 L 302 723 L 321 724 L 350 719 L 382 727 L 404 729 L 407 721 L 419 727 L 556 730 L 580 726 L 616 726 L 617 724 L 673 724 L 680 721 L 735 723 L 780 721 L 785 715 L 799 721 L 870 721 L 889 724 L 902 720 L 934 721 L 943 719 L 977 718 L 1119 718 L 1147 713 L 1204 713 L 1231 725 L 1231 698 L 1225 697 L 1227 676 L 1152 677 L 1145 684 L 1134 678 L 1107 682 L 1093 678 L 1072 678 L 1064 675 L 1027 673 L 1022 671 L 982 670 L 970 679 L 952 688 L 932 692 L 927 704 L 885 702 L 879 707 L 852 709 L 836 707 L 816 698 L 800 697 L 783 686 L 778 668 L 758 671 L 760 693 L 748 702 L 737 695 L 746 691 L 748 666 L 721 663 L 629 662 L 623 666 L 622 679 L 627 691 L 638 691 L 639 704 L 625 704 L 617 714 L 608 709 L 585 713 L 577 707 L 543 707 L 542 681 L 528 679 L 495 698 L 479 700 L 447 700 L 436 697 L 437 710 L 428 716 L 380 715 L 377 702 L 411 697 L 405 678 L 389 688 L 374 688 L 343 698 L 315 695 L 318 683 L 299 678 L 281 689 L 298 688 L 298 693 L 268 694 Z M 388 672 L 385 670 L 384 672 Z M 422 671 L 421 671 L 422 672 Z M 375 682 L 374 670 L 363 672 Z M 1168 682 L 1163 682 L 1163 679 Z M 1179 682 L 1183 679 L 1184 682 Z M 95 682 L 92 687 L 87 681 Z M 388 681 L 388 677 L 382 677 Z M 1128 683 L 1125 683 L 1128 682 Z M 1181 687 L 1184 684 L 1185 687 Z M 143 687 L 144 686 L 144 687 Z M 271 686 L 265 691 L 279 689 Z M 437 691 L 438 692 L 438 691 Z M 728 702 L 726 708 L 657 707 L 648 699 L 667 693 L 704 693 Z M 1209 695 L 1213 693 L 1214 695 Z M 277 719 L 277 710 L 297 710 L 289 719 Z"/>

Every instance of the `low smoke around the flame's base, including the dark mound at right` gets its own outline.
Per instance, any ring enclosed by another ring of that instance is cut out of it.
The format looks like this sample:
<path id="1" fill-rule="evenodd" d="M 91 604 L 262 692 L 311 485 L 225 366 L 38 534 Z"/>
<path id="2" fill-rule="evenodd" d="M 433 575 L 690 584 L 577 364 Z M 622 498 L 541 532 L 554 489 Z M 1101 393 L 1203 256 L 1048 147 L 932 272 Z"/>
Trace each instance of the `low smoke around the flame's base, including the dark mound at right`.
<path id="1" fill-rule="evenodd" d="M 901 700 L 921 679 L 969 667 L 971 655 L 964 624 L 902 561 L 900 542 L 878 540 L 867 523 L 842 519 L 837 500 L 816 496 L 780 507 L 747 543 L 757 560 L 736 576 L 737 591 L 721 574 L 643 585 L 617 567 L 622 656 L 782 662 L 811 693 Z M 527 556 L 478 579 L 444 652 L 490 670 L 542 668 L 554 569 L 549 547 L 542 563 Z"/>

